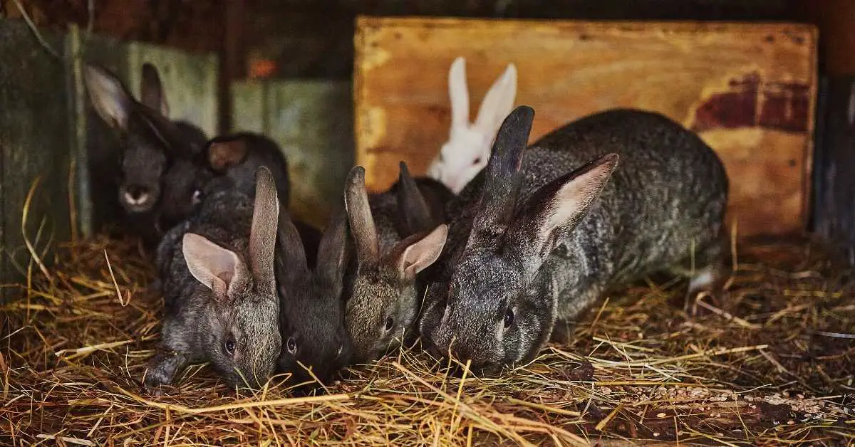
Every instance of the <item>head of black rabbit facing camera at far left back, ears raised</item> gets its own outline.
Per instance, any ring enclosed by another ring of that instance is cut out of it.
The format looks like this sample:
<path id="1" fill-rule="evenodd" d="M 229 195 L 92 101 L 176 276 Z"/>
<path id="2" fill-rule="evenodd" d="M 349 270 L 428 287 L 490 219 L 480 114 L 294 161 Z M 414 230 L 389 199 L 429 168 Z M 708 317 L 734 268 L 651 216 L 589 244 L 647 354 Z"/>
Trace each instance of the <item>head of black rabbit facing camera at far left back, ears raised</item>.
<path id="1" fill-rule="evenodd" d="M 97 115 L 120 137 L 119 203 L 129 213 L 148 212 L 161 198 L 171 159 L 190 156 L 192 143 L 166 118 L 163 86 L 150 63 L 143 66 L 141 103 L 106 68 L 86 65 L 84 75 Z"/>

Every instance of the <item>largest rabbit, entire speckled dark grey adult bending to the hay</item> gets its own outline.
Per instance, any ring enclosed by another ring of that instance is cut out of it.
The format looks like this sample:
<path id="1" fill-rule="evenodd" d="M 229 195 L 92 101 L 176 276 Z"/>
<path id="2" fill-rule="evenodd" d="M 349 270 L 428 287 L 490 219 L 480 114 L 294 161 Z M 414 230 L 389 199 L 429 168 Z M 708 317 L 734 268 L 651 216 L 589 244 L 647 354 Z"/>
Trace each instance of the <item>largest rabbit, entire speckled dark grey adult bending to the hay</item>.
<path id="1" fill-rule="evenodd" d="M 606 291 L 667 271 L 699 291 L 722 263 L 728 176 L 696 134 L 654 112 L 610 109 L 526 148 L 533 120 L 528 106 L 511 112 L 487 168 L 449 204 L 419 321 L 430 352 L 482 373 L 566 340 Z"/>

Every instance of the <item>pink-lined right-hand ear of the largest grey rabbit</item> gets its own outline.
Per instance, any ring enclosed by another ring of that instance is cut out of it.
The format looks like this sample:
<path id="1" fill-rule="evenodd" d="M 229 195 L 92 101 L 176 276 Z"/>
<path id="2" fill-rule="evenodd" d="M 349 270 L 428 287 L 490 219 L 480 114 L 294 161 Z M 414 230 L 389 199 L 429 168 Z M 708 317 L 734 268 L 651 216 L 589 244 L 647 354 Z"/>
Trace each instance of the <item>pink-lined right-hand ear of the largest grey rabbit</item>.
<path id="1" fill-rule="evenodd" d="M 555 248 L 557 232 L 579 224 L 617 166 L 617 154 L 606 154 L 593 162 L 540 187 L 522 208 L 508 231 L 506 244 L 522 250 L 523 258 L 534 260 L 528 273 Z"/>

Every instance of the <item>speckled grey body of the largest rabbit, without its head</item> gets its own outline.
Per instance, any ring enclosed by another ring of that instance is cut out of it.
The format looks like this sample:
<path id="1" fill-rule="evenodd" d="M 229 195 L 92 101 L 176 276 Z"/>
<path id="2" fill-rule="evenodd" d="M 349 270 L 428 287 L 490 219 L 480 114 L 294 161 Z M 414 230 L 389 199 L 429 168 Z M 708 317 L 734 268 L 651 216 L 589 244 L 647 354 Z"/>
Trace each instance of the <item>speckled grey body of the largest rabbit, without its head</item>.
<path id="1" fill-rule="evenodd" d="M 609 153 L 620 156 L 618 168 L 545 265 L 549 280 L 566 285 L 557 292 L 568 299 L 668 269 L 689 259 L 691 250 L 718 244 L 722 234 L 728 177 L 721 160 L 675 121 L 635 109 L 589 115 L 531 144 L 522 157 L 516 211 L 547 183 Z M 469 237 L 484 180 L 482 171 L 446 209 L 453 219 L 446 247 L 457 253 Z M 559 314 L 576 309 L 565 307 Z"/>

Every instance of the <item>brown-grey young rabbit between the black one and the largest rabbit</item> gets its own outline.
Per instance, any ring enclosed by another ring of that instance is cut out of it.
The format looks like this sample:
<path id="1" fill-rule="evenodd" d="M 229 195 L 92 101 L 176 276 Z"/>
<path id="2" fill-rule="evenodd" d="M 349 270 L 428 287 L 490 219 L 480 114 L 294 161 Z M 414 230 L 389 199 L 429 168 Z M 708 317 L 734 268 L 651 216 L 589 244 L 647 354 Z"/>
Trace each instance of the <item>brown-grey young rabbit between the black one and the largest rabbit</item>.
<path id="1" fill-rule="evenodd" d="M 356 277 L 345 308 L 353 362 L 374 361 L 409 338 L 422 298 L 417 275 L 445 245 L 445 203 L 428 206 L 419 186 L 401 162 L 398 184 L 372 201 L 365 170 L 357 166 L 348 175 L 345 207 L 357 248 Z"/>

